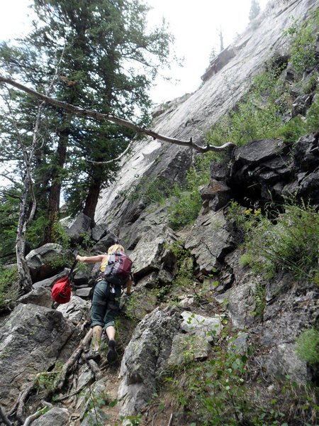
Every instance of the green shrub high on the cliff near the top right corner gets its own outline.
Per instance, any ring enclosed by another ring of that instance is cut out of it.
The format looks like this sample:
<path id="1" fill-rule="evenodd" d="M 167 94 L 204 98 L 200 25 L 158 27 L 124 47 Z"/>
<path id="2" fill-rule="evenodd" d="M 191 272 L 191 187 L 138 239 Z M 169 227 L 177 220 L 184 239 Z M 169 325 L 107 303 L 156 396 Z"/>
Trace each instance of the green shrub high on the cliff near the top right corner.
<path id="1" fill-rule="evenodd" d="M 293 36 L 291 45 L 291 64 L 297 75 L 301 76 L 303 72 L 316 64 L 315 40 L 317 38 L 317 29 L 319 24 L 319 12 L 316 10 L 301 26 L 297 29 L 296 22 L 285 31 L 286 35 Z"/>

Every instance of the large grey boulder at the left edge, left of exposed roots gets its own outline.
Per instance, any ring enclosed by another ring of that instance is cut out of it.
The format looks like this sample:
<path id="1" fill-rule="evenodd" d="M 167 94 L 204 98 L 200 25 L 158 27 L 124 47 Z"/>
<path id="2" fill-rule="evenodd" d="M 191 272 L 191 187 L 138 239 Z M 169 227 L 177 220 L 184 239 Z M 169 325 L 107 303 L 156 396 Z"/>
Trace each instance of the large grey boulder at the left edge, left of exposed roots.
<path id="1" fill-rule="evenodd" d="M 12 408 L 21 388 L 55 364 L 74 332 L 60 312 L 18 305 L 0 329 L 0 399 Z"/>

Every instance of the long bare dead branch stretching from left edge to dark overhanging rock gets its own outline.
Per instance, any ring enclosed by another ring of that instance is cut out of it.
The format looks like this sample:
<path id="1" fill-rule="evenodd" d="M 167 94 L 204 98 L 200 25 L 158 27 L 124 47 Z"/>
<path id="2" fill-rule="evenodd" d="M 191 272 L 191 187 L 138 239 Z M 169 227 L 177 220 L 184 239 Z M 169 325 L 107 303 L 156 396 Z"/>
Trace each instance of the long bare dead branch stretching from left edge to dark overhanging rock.
<path id="1" fill-rule="evenodd" d="M 53 99 L 50 97 L 47 97 L 45 94 L 36 92 L 33 89 L 30 89 L 29 87 L 24 86 L 23 84 L 20 84 L 18 82 L 15 82 L 14 80 L 11 80 L 10 78 L 6 78 L 0 75 L 0 83 L 10 84 L 13 87 L 16 87 L 16 89 L 22 90 L 23 92 L 26 92 L 30 94 L 31 96 L 42 100 L 43 102 L 46 102 L 47 104 L 52 105 L 52 107 L 56 108 L 62 108 L 66 111 L 69 111 L 71 114 L 95 119 L 98 121 L 111 121 L 112 123 L 118 124 L 119 126 L 124 126 L 128 129 L 132 129 L 137 133 L 142 133 L 147 136 L 151 136 L 154 139 L 159 139 L 159 141 L 174 143 L 176 145 L 186 146 L 188 148 L 192 148 L 199 153 L 206 153 L 208 151 L 225 151 L 230 148 L 234 147 L 233 143 L 224 143 L 222 146 L 213 146 L 213 145 L 206 145 L 206 146 L 200 146 L 197 143 L 194 143 L 192 138 L 190 138 L 189 141 L 182 141 L 177 138 L 169 138 L 168 136 L 161 135 L 159 133 L 156 133 L 155 131 L 152 131 L 151 129 L 145 129 L 144 127 L 140 127 L 136 124 L 130 123 L 130 121 L 126 121 L 123 119 L 119 119 L 116 116 L 111 116 L 108 114 L 103 114 L 99 111 L 94 111 L 92 109 L 84 109 L 80 107 L 75 107 L 72 104 L 67 104 L 67 102 L 61 102 L 57 99 Z"/>

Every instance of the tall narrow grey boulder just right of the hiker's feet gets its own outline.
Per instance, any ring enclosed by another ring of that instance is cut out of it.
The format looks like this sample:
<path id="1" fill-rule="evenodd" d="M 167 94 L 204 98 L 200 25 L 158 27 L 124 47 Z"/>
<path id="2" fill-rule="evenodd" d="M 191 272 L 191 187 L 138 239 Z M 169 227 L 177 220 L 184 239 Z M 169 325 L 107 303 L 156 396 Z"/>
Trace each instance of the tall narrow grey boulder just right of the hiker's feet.
<path id="1" fill-rule="evenodd" d="M 118 389 L 120 415 L 136 415 L 149 404 L 157 378 L 167 366 L 172 341 L 179 330 L 179 312 L 155 309 L 138 324 L 121 363 Z"/>

